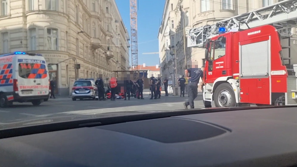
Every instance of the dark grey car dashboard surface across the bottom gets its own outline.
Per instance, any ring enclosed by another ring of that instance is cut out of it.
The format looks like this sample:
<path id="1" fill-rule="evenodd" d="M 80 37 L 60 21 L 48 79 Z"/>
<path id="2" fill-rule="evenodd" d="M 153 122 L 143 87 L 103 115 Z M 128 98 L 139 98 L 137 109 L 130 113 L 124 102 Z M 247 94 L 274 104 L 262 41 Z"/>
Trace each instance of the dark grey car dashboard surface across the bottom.
<path id="1" fill-rule="evenodd" d="M 297 108 L 191 114 L 0 139 L 0 166 L 293 166 Z"/>

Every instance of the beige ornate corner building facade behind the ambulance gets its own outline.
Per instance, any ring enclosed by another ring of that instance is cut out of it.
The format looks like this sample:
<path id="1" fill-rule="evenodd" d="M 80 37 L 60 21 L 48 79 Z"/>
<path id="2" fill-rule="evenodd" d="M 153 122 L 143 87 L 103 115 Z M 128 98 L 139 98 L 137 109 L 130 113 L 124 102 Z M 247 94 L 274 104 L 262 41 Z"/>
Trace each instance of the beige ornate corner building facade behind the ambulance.
<path id="1" fill-rule="evenodd" d="M 58 95 L 69 95 L 75 78 L 127 69 L 129 35 L 115 0 L 0 1 L 0 53 L 42 54 Z"/>

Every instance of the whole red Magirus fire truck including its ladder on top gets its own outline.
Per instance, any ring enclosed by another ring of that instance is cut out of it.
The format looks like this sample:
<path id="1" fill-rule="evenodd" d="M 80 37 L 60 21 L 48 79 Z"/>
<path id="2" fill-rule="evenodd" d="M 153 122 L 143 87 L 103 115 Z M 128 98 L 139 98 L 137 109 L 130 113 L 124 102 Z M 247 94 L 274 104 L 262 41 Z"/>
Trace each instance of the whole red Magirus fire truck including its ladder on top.
<path id="1" fill-rule="evenodd" d="M 286 32 L 296 23 L 297 0 L 285 0 L 192 29 L 188 38 L 205 48 L 203 100 L 216 107 L 297 105 L 297 55 L 290 55 L 297 47 Z"/>

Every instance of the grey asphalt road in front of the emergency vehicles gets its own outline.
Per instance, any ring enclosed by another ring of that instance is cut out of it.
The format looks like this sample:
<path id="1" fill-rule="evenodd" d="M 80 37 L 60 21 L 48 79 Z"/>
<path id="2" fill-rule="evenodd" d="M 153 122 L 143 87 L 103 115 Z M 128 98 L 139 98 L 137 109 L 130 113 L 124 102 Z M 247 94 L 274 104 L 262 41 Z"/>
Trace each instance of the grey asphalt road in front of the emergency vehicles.
<path id="1" fill-rule="evenodd" d="M 32 103 L 13 103 L 10 108 L 0 108 L 0 123 L 10 123 L 22 120 L 31 120 L 43 117 L 55 117 L 65 115 L 85 115 L 103 112 L 120 111 L 153 111 L 184 109 L 185 97 L 161 97 L 149 99 L 149 94 L 144 93 L 145 99 L 131 98 L 130 100 L 76 100 L 71 98 L 56 98 L 33 106 Z M 203 108 L 202 96 L 195 99 L 195 108 Z"/>

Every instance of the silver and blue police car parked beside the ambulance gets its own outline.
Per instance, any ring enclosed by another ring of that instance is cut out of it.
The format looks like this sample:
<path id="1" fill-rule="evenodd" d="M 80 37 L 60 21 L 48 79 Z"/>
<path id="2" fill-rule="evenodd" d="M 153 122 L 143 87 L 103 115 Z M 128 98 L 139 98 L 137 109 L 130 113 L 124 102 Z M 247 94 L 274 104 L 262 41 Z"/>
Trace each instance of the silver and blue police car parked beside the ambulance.
<path id="1" fill-rule="evenodd" d="M 72 87 L 72 100 L 83 100 L 84 98 L 96 99 L 97 86 L 94 79 L 78 79 L 74 82 Z"/>

